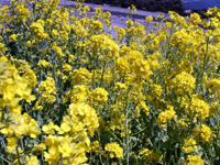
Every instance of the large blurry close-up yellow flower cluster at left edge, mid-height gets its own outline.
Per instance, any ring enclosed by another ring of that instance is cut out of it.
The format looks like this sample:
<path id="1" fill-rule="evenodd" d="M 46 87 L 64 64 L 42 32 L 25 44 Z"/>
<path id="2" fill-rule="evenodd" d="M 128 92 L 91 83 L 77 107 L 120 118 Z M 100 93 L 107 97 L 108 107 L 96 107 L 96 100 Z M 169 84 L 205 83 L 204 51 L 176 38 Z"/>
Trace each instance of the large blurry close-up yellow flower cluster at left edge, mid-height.
<path id="1" fill-rule="evenodd" d="M 25 99 L 31 102 L 35 96 L 31 95 L 31 88 L 19 75 L 16 68 L 9 62 L 0 62 L 0 107 L 9 107 L 11 113 L 21 114 L 19 101 Z"/>

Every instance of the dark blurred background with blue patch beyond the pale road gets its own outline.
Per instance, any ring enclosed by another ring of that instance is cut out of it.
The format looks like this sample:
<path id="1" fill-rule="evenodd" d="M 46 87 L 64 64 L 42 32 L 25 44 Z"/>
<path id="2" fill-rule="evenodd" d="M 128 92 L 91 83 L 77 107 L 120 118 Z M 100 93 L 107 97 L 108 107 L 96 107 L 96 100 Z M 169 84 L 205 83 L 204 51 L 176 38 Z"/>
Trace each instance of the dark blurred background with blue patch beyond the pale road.
<path id="1" fill-rule="evenodd" d="M 85 0 L 88 3 L 110 4 L 113 7 L 128 8 L 134 4 L 136 9 L 145 11 L 176 11 L 182 15 L 197 12 L 201 16 L 208 8 L 220 8 L 220 0 Z"/>

